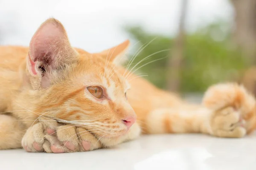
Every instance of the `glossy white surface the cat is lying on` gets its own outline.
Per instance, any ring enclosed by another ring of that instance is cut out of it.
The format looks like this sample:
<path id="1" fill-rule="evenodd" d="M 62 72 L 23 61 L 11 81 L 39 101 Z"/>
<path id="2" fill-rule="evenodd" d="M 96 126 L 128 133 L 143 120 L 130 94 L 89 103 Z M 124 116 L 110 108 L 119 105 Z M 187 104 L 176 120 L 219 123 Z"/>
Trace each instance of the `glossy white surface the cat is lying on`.
<path id="1" fill-rule="evenodd" d="M 1 150 L 0 170 L 256 170 L 256 133 L 243 139 L 152 135 L 85 153 Z"/>

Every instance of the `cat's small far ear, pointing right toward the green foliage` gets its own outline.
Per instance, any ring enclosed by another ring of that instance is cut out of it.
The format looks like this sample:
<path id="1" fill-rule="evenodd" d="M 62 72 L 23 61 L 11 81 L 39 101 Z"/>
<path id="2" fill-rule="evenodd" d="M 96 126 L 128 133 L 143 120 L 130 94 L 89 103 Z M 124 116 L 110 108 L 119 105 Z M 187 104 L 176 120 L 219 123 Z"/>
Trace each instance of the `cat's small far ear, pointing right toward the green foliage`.
<path id="1" fill-rule="evenodd" d="M 130 41 L 126 40 L 113 48 L 107 49 L 97 54 L 101 55 L 105 59 L 108 59 L 116 65 L 122 65 L 122 63 L 127 60 L 127 55 L 125 52 L 127 51 L 129 45 Z"/>

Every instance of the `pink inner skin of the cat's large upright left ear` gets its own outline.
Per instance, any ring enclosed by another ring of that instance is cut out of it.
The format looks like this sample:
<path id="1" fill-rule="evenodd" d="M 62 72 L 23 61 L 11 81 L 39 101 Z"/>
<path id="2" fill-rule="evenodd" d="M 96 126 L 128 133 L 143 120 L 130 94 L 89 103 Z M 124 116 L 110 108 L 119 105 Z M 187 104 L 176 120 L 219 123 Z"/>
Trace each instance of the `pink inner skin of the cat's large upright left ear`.
<path id="1" fill-rule="evenodd" d="M 29 45 L 29 62 L 31 67 L 35 66 L 37 61 L 42 65 L 48 65 L 55 68 L 57 62 L 63 60 L 65 51 L 69 46 L 67 35 L 61 23 L 55 20 L 48 20 L 36 31 Z M 32 73 L 36 75 L 37 68 L 31 68 Z"/>

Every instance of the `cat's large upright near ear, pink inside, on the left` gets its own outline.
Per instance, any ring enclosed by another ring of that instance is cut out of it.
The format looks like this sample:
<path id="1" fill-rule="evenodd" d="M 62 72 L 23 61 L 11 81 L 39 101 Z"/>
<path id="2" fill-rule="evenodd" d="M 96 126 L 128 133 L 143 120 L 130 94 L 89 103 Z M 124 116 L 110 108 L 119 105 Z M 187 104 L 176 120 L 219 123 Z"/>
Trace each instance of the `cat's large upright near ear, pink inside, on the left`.
<path id="1" fill-rule="evenodd" d="M 73 62 L 76 51 L 71 47 L 62 24 L 53 18 L 46 20 L 29 44 L 27 67 L 33 77 L 39 77 L 42 88 L 50 85 L 52 72 Z"/>

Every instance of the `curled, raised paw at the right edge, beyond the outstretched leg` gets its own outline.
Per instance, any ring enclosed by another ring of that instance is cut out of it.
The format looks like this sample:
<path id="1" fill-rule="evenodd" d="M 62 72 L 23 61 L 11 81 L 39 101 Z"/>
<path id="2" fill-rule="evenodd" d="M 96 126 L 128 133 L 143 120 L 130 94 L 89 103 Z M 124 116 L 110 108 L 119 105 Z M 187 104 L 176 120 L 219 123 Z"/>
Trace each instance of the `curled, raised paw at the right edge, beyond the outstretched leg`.
<path id="1" fill-rule="evenodd" d="M 203 103 L 212 110 L 209 124 L 214 136 L 241 138 L 256 127 L 255 99 L 241 85 L 214 85 Z"/>

